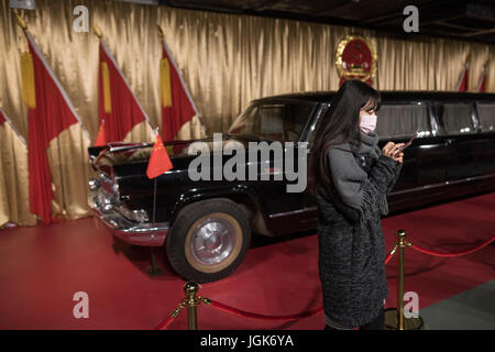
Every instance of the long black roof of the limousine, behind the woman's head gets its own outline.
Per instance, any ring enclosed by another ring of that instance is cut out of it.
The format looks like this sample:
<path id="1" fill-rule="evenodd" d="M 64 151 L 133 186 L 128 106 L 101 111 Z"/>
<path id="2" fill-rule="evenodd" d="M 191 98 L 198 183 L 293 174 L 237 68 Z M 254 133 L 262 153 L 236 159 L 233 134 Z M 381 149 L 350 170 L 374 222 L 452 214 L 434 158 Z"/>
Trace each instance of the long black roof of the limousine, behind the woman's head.
<path id="1" fill-rule="evenodd" d="M 400 100 L 491 100 L 495 101 L 495 94 L 485 92 L 459 92 L 459 91 L 430 91 L 430 90 L 380 90 L 382 101 Z M 334 90 L 293 92 L 278 96 L 264 97 L 253 102 L 266 102 L 270 100 L 302 100 L 310 102 L 330 102 L 336 95 Z"/>

